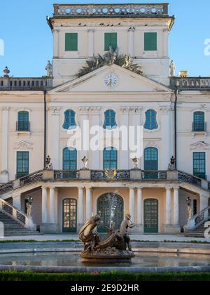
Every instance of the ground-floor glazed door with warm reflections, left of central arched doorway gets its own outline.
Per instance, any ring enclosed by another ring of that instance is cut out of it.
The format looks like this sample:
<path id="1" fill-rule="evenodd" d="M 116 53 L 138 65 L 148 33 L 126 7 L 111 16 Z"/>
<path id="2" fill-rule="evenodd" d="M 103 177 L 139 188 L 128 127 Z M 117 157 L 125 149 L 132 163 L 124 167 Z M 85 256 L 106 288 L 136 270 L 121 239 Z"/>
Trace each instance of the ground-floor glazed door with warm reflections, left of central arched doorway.
<path id="1" fill-rule="evenodd" d="M 77 202 L 76 199 L 63 200 L 63 232 L 76 232 Z"/>

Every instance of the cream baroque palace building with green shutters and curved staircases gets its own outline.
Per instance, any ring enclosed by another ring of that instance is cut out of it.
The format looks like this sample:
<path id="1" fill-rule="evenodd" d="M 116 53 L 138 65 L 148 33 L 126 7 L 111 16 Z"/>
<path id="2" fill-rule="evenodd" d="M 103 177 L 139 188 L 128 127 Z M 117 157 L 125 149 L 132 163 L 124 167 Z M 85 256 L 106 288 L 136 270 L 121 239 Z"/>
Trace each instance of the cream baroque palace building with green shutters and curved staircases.
<path id="1" fill-rule="evenodd" d="M 55 4 L 47 21 L 47 76 L 10 77 L 6 67 L 0 77 L 5 235 L 78 232 L 92 214 L 106 232 L 128 212 L 134 234 L 200 234 L 210 217 L 210 77 L 176 76 L 168 4 Z"/>

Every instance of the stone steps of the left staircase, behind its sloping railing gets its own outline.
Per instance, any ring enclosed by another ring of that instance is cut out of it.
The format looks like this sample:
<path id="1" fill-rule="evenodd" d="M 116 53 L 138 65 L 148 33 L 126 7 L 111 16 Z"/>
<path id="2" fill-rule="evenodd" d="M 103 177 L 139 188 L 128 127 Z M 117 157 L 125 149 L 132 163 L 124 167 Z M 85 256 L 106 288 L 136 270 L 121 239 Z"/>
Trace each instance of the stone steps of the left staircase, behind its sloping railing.
<path id="1" fill-rule="evenodd" d="M 4 225 L 4 236 L 21 236 L 21 235 L 40 235 L 39 232 L 35 230 L 27 230 L 20 223 L 15 221 L 13 218 L 10 218 L 6 214 L 0 211 L 0 221 Z"/>

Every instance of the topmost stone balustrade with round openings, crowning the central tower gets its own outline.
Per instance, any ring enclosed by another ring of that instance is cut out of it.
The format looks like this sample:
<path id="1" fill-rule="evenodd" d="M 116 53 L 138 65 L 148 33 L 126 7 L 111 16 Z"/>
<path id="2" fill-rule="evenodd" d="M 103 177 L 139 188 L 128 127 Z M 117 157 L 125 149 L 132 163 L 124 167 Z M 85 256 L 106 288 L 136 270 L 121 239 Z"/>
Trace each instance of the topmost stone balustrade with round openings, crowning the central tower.
<path id="1" fill-rule="evenodd" d="M 55 4 L 54 16 L 168 15 L 168 4 Z"/>

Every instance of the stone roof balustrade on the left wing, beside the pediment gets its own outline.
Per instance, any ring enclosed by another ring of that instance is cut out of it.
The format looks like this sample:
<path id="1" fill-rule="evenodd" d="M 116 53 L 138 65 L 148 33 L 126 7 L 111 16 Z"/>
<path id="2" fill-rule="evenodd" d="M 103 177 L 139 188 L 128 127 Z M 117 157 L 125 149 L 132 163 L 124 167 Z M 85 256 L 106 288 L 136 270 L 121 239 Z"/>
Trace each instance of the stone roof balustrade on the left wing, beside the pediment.
<path id="1" fill-rule="evenodd" d="M 0 77 L 0 91 L 43 91 L 52 89 L 52 79 Z"/>

